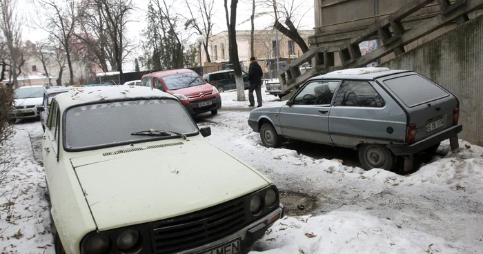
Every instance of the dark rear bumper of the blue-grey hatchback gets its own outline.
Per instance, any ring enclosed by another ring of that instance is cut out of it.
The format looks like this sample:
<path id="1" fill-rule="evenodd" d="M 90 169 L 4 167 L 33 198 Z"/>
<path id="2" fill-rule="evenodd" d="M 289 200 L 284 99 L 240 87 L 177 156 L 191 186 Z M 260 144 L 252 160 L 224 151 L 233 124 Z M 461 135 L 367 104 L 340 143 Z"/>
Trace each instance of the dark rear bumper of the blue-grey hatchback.
<path id="1" fill-rule="evenodd" d="M 422 150 L 425 150 L 426 148 L 430 148 L 431 146 L 434 146 L 435 144 L 443 141 L 444 139 L 455 137 L 458 133 L 461 133 L 462 130 L 463 130 L 462 124 L 458 124 L 457 126 L 453 126 L 451 128 L 447 128 L 446 130 L 442 130 L 439 133 L 436 133 L 435 135 L 426 137 L 426 139 L 422 139 L 411 145 L 389 144 L 387 145 L 387 147 L 389 148 L 389 150 L 391 150 L 394 153 L 394 155 L 397 155 L 397 156 L 413 155 Z"/>

